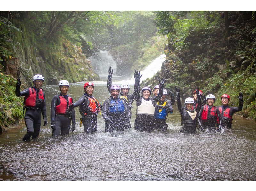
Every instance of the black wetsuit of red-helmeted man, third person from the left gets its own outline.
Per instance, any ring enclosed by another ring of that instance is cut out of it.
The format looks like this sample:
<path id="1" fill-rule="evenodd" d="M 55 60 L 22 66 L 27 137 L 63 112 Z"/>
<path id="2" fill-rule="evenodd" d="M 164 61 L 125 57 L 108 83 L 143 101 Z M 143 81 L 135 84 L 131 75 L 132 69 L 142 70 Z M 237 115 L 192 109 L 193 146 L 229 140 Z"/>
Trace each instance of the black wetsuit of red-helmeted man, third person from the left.
<path id="1" fill-rule="evenodd" d="M 97 114 L 100 112 L 99 110 L 96 113 L 92 113 L 90 111 L 89 105 L 90 100 L 89 98 L 94 98 L 93 96 L 89 96 L 88 94 L 84 93 L 75 103 L 74 107 L 79 106 L 79 111 L 82 116 L 82 122 L 84 126 L 84 132 L 94 134 L 98 128 L 98 118 Z M 95 98 L 94 98 L 95 99 Z"/>

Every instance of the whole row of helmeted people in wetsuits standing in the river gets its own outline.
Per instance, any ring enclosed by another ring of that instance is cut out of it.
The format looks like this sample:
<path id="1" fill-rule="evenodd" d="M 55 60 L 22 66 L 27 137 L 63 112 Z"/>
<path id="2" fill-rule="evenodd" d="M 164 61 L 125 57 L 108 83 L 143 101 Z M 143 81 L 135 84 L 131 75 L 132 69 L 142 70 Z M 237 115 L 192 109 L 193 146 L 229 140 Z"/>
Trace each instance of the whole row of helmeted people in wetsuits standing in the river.
<path id="1" fill-rule="evenodd" d="M 76 128 L 75 107 L 79 107 L 81 115 L 80 124 L 83 124 L 84 131 L 94 134 L 97 131 L 97 115 L 102 112 L 105 121 L 105 132 L 124 131 L 131 128 L 132 103 L 136 101 L 136 118 L 134 129 L 137 131 L 152 132 L 154 130 L 167 131 L 166 118 L 168 113 L 173 112 L 172 105 L 175 103 L 175 96 L 171 91 L 164 88 L 166 79 L 159 80 L 159 84 L 153 88 L 145 86 L 141 89 L 140 95 L 140 71 L 134 73 L 134 91 L 129 94 L 129 84 L 122 84 L 121 87 L 112 84 L 113 70 L 108 70 L 107 88 L 110 97 L 101 105 L 92 96 L 94 85 L 92 82 L 84 84 L 84 94 L 74 103 L 73 98 L 68 96 L 69 82 L 61 80 L 59 82 L 60 93 L 53 96 L 51 101 L 51 128 L 52 136 L 66 135 Z M 41 88 L 44 77 L 36 74 L 33 79 L 33 87 L 26 88 L 20 92 L 21 81 L 17 79 L 16 96 L 24 96 L 25 124 L 27 133 L 23 141 L 38 137 L 41 127 L 41 113 L 44 125 L 47 125 L 46 103 L 44 91 Z M 243 107 L 243 94 L 239 93 L 239 106 L 230 107 L 228 105 L 230 96 L 221 96 L 221 106 L 215 107 L 216 100 L 212 94 L 203 96 L 203 92 L 196 88 L 193 97 L 185 99 L 184 105 L 180 101 L 180 88 L 175 86 L 177 106 L 181 115 L 181 133 L 196 133 L 196 129 L 201 131 L 220 131 L 223 128 L 232 127 L 232 116 L 235 112 L 241 111 Z M 151 94 L 152 97 L 151 97 Z M 170 100 L 166 99 L 170 95 Z"/>

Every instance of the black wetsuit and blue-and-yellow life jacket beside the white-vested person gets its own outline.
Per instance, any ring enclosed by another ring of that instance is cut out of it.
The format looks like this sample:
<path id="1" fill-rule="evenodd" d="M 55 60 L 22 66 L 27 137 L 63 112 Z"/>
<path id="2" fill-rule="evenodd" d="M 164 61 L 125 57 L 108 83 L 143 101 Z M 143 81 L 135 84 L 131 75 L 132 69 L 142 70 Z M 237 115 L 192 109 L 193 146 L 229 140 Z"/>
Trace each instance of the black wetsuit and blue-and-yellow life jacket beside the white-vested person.
<path id="1" fill-rule="evenodd" d="M 165 105 L 170 105 L 169 107 L 163 109 L 163 104 L 164 102 L 166 102 Z M 172 105 L 171 105 L 171 101 L 170 100 L 167 100 L 167 99 L 164 99 L 163 101 L 159 100 L 158 104 L 155 105 L 155 115 L 154 115 L 154 129 L 160 129 L 162 131 L 166 131 L 167 130 L 167 123 L 166 123 L 166 117 L 167 117 L 167 113 L 170 112 L 172 113 L 173 112 L 173 109 L 172 109 Z M 163 115 L 161 116 L 158 116 L 157 114 L 158 113 L 162 113 L 164 112 Z"/>

